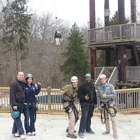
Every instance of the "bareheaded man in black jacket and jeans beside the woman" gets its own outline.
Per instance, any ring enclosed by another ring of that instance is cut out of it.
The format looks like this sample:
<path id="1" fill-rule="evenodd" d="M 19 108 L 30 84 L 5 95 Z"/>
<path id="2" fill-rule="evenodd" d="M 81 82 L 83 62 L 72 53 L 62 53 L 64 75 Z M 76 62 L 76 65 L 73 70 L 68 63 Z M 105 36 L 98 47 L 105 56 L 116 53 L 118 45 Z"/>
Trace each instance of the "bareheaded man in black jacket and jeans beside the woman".
<path id="1" fill-rule="evenodd" d="M 18 72 L 17 78 L 10 85 L 10 104 L 13 111 L 19 111 L 20 115 L 14 119 L 12 134 L 15 137 L 25 139 L 24 130 L 21 122 L 21 113 L 23 112 L 24 100 L 25 100 L 25 82 L 24 73 Z"/>

